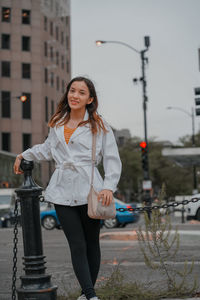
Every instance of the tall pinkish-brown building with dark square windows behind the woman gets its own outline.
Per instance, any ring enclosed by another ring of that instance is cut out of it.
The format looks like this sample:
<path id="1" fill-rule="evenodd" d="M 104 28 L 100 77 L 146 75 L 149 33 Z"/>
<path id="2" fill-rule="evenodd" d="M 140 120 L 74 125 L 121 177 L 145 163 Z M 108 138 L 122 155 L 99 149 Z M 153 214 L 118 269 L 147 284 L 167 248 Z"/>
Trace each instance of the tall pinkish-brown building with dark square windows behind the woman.
<path id="1" fill-rule="evenodd" d="M 71 78 L 70 2 L 1 0 L 0 9 L 0 150 L 21 153 L 45 140 Z M 51 164 L 41 169 L 46 186 Z"/>

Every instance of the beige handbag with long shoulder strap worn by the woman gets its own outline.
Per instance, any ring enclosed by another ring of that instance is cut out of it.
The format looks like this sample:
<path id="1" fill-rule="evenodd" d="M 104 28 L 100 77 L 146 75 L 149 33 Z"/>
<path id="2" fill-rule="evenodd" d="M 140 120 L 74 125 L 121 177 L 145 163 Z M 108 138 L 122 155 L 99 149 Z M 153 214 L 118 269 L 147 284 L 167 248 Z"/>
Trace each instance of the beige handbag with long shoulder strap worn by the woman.
<path id="1" fill-rule="evenodd" d="M 92 135 L 92 176 L 90 184 L 90 192 L 88 195 L 88 216 L 92 219 L 111 219 L 116 216 L 116 207 L 114 198 L 109 206 L 102 205 L 101 200 L 98 201 L 98 193 L 93 187 L 94 166 L 96 154 L 96 134 Z"/>

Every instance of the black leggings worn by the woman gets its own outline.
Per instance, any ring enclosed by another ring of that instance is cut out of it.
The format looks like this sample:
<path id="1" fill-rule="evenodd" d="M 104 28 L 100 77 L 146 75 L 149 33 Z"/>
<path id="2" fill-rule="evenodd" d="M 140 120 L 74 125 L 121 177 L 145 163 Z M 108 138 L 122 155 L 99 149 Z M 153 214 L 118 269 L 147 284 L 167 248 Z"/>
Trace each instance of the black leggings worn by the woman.
<path id="1" fill-rule="evenodd" d="M 68 240 L 74 272 L 87 299 L 95 297 L 94 285 L 100 268 L 100 220 L 87 215 L 87 204 L 55 204 L 57 216 Z"/>

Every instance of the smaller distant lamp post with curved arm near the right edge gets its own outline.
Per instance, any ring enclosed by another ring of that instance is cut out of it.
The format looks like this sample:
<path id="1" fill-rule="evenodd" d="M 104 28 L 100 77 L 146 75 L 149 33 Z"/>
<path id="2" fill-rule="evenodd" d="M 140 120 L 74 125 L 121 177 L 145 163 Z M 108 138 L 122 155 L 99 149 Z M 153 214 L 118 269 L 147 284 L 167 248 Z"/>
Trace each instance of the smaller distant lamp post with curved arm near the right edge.
<path id="1" fill-rule="evenodd" d="M 191 113 L 189 113 L 187 110 L 183 109 L 182 107 L 178 106 L 168 106 L 167 109 L 175 109 L 182 111 L 186 115 L 188 115 L 192 120 L 192 147 L 195 147 L 195 122 L 194 122 L 194 107 L 191 108 Z M 196 172 L 196 166 L 193 165 L 193 193 L 197 193 L 197 172 Z"/>

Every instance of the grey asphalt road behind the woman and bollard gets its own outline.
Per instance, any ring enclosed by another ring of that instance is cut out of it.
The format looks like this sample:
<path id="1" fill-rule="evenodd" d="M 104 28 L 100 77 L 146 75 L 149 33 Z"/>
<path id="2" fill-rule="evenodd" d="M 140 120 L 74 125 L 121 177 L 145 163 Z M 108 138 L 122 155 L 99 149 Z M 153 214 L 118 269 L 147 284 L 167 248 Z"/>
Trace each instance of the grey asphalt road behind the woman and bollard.
<path id="1" fill-rule="evenodd" d="M 178 220 L 179 221 L 179 220 Z M 176 220 L 176 223 L 178 222 Z M 141 222 L 142 223 L 142 220 Z M 122 229 L 113 229 L 127 231 L 137 228 L 138 224 L 129 225 Z M 188 264 L 194 260 L 194 269 L 188 279 L 193 282 L 194 276 L 197 277 L 200 284 L 200 225 L 191 225 L 189 223 L 179 225 L 180 248 L 175 262 L 169 260 L 171 266 L 178 270 L 183 270 L 184 262 Z M 113 231 L 112 230 L 112 231 Z M 11 278 L 12 278 L 12 256 L 13 256 L 13 230 L 0 229 L 0 299 L 11 299 Z M 108 232 L 102 229 L 101 232 Z M 42 230 L 44 254 L 47 261 L 47 273 L 52 274 L 53 284 L 58 285 L 58 294 L 67 294 L 69 291 L 78 289 L 78 282 L 75 279 L 71 265 L 70 252 L 67 241 L 62 230 L 46 231 Z M 126 281 L 138 281 L 152 287 L 161 287 L 165 284 L 166 278 L 159 271 L 149 270 L 145 263 L 143 255 L 139 249 L 138 241 L 113 241 L 101 240 L 102 262 L 98 276 L 97 285 L 106 282 L 107 278 L 120 264 L 120 270 Z M 19 229 L 18 242 L 18 279 L 17 287 L 20 286 L 19 276 L 24 274 L 22 265 L 23 242 L 22 232 Z"/>

